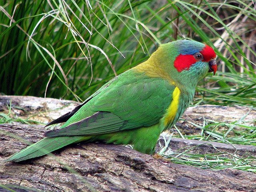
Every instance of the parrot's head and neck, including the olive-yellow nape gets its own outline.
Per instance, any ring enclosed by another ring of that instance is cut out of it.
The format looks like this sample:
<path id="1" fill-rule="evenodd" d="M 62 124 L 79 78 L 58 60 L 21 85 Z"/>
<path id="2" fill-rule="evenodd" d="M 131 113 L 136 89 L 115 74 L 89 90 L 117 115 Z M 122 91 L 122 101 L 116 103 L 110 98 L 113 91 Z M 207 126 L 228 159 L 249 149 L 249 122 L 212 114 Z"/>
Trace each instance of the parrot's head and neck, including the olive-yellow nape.
<path id="1" fill-rule="evenodd" d="M 162 44 L 150 58 L 136 66 L 136 70 L 152 77 L 196 87 L 198 80 L 208 72 L 217 71 L 216 53 L 205 44 L 192 40 L 178 40 Z"/>

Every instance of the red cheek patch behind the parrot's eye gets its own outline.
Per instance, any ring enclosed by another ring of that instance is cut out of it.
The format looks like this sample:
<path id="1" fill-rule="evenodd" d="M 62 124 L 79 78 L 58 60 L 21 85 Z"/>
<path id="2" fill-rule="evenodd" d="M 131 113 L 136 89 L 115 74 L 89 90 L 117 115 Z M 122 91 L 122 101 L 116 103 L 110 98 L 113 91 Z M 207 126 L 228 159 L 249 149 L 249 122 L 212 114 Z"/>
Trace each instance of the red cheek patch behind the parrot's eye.
<path id="1" fill-rule="evenodd" d="M 174 61 L 174 67 L 177 71 L 181 72 L 184 69 L 188 70 L 189 67 L 196 63 L 196 59 L 193 55 L 178 55 Z"/>

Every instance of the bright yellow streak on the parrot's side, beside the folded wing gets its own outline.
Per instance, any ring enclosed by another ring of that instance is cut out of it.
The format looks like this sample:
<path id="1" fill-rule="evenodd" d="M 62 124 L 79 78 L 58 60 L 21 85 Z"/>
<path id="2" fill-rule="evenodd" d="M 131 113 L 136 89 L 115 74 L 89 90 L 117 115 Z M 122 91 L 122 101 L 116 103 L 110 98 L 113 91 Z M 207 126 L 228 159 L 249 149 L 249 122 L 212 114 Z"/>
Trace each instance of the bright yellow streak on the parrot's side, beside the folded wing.
<path id="1" fill-rule="evenodd" d="M 172 93 L 172 102 L 168 107 L 167 114 L 164 118 L 165 125 L 168 125 L 170 122 L 174 120 L 176 113 L 178 111 L 179 98 L 180 98 L 180 89 L 178 87 L 175 87 Z"/>

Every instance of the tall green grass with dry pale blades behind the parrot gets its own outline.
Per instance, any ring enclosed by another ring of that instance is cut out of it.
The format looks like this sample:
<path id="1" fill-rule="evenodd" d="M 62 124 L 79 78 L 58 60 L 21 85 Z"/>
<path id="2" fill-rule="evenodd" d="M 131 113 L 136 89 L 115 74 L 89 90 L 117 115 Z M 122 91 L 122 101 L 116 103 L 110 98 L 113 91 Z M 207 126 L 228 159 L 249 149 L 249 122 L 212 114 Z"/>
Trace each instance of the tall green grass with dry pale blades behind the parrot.
<path id="1" fill-rule="evenodd" d="M 200 81 L 194 104 L 255 109 L 255 23 L 251 0 L 4 1 L 0 92 L 82 101 L 159 44 L 186 38 L 214 47 L 219 63 Z"/>

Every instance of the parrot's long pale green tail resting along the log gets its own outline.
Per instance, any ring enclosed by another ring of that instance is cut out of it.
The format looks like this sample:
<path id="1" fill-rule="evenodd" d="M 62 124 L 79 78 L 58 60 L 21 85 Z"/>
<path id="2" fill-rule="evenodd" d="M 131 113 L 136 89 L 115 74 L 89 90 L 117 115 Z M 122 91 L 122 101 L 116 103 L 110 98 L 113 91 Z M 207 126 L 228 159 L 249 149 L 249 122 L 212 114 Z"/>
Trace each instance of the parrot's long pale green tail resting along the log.
<path id="1" fill-rule="evenodd" d="M 85 139 L 86 137 L 84 136 L 44 138 L 38 141 L 37 143 L 34 143 L 20 150 L 20 152 L 17 152 L 16 154 L 8 158 L 6 162 L 7 161 L 18 162 L 18 161 L 42 156 L 49 152 L 62 148 L 68 144 L 84 141 Z"/>

